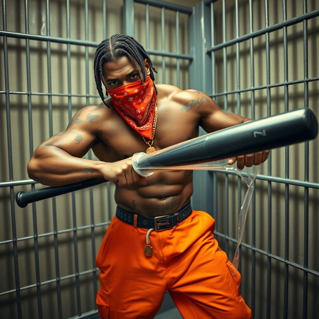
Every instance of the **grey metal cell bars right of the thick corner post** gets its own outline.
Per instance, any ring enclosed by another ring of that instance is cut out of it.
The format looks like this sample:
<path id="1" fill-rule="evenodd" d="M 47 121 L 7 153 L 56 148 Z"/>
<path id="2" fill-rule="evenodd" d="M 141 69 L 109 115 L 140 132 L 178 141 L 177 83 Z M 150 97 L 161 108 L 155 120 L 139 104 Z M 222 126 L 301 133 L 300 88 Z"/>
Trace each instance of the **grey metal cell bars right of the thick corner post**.
<path id="1" fill-rule="evenodd" d="M 305 99 L 305 107 L 309 107 L 308 105 L 308 82 L 310 81 L 317 81 L 319 77 L 308 78 L 308 30 L 307 30 L 307 21 L 308 19 L 314 18 L 319 16 L 319 9 L 316 9 L 311 12 L 307 12 L 307 1 L 303 0 L 303 14 L 299 17 L 294 17 L 292 19 L 287 20 L 287 5 L 286 0 L 283 0 L 283 21 L 277 23 L 273 26 L 269 26 L 269 10 L 268 10 L 268 0 L 264 1 L 265 6 L 265 28 L 253 31 L 253 9 L 252 9 L 252 0 L 249 0 L 249 33 L 239 36 L 239 29 L 238 29 L 238 1 L 235 2 L 235 15 L 236 15 L 236 37 L 229 41 L 225 39 L 225 0 L 222 0 L 222 25 L 223 25 L 223 41 L 218 45 L 214 45 L 214 2 L 218 0 L 206 0 L 204 1 L 205 5 L 210 5 L 211 9 L 211 48 L 207 48 L 206 52 L 211 53 L 211 60 L 212 60 L 212 98 L 216 98 L 217 96 L 224 96 L 225 101 L 225 110 L 227 109 L 227 100 L 225 96 L 228 94 L 237 93 L 237 112 L 240 114 L 240 93 L 242 92 L 251 92 L 251 113 L 252 118 L 255 118 L 255 91 L 266 89 L 267 90 L 267 116 L 271 115 L 271 88 L 274 87 L 284 87 L 284 98 L 285 98 L 285 112 L 289 110 L 288 106 L 288 86 L 298 83 L 304 83 L 304 99 Z M 287 53 L 287 27 L 292 26 L 296 23 L 303 22 L 303 50 L 304 50 L 304 79 L 303 80 L 296 80 L 296 81 L 288 81 L 288 53 Z M 283 29 L 283 45 L 284 45 L 284 83 L 276 83 L 270 84 L 270 51 L 269 51 L 269 33 L 275 30 Z M 253 39 L 257 36 L 265 34 L 266 37 L 266 85 L 255 87 L 255 74 L 254 74 L 254 48 L 253 48 Z M 245 40 L 250 41 L 250 80 L 251 80 L 251 87 L 247 89 L 240 89 L 239 84 L 239 72 L 240 72 L 240 65 L 239 65 L 239 43 Z M 236 74 L 237 74 L 237 87 L 235 91 L 227 91 L 225 82 L 225 48 L 230 45 L 236 45 Z M 217 50 L 223 49 L 223 64 L 224 64 L 224 92 L 216 93 L 216 68 L 215 68 L 215 52 Z M 226 91 L 226 92 L 225 92 Z M 214 173 L 215 174 L 215 173 Z M 224 173 L 225 174 L 225 173 Z M 226 173 L 226 174 L 233 174 L 233 173 Z M 271 259 L 278 260 L 285 264 L 285 278 L 284 278 L 284 318 L 287 318 L 288 315 L 288 266 L 293 266 L 304 272 L 304 281 L 303 281 L 303 318 L 307 318 L 307 297 L 308 297 L 308 273 L 311 273 L 315 276 L 319 277 L 319 272 L 309 269 L 308 268 L 308 213 L 309 213 L 309 194 L 308 190 L 310 188 L 319 189 L 319 183 L 315 182 L 308 182 L 309 181 L 309 142 L 305 143 L 305 178 L 304 181 L 293 180 L 289 179 L 289 147 L 285 147 L 285 178 L 274 177 L 271 176 L 271 156 L 268 159 L 268 167 L 267 167 L 267 174 L 262 175 L 257 174 L 256 179 L 268 181 L 268 243 L 267 243 L 267 252 L 255 247 L 256 244 L 256 193 L 254 190 L 253 197 L 252 197 L 252 245 L 248 245 L 246 243 L 241 243 L 242 246 L 249 248 L 252 250 L 252 282 L 251 282 L 251 291 L 252 291 L 252 300 L 251 300 L 251 308 L 252 308 L 252 316 L 255 317 L 255 274 L 256 274 L 256 255 L 255 253 L 261 253 L 267 256 L 267 302 L 266 302 L 266 317 L 267 319 L 270 318 L 270 298 L 271 298 Z M 214 179 L 214 199 L 217 200 L 217 181 L 216 177 Z M 277 255 L 271 253 L 271 182 L 279 182 L 285 184 L 285 258 L 281 258 Z M 256 183 L 256 182 L 255 182 Z M 226 184 L 226 181 L 225 181 Z M 296 185 L 304 187 L 304 265 L 300 265 L 298 263 L 293 263 L 289 261 L 289 185 Z M 255 188 L 254 188 L 255 189 Z M 238 194 L 239 197 L 239 194 Z M 240 199 L 240 197 L 239 197 Z M 226 199 L 227 200 L 227 199 Z M 216 209 L 217 203 L 215 203 L 214 208 Z M 227 206 L 226 206 L 227 207 Z M 217 211 L 216 211 L 217 213 Z M 226 215 L 227 220 L 227 215 Z M 227 221 L 226 221 L 227 223 Z M 226 224 L 226 231 L 228 230 Z M 214 234 L 217 234 L 226 239 L 226 247 L 228 247 L 227 242 L 233 241 L 237 242 L 236 239 L 229 237 L 227 234 L 222 234 L 215 230 Z"/>

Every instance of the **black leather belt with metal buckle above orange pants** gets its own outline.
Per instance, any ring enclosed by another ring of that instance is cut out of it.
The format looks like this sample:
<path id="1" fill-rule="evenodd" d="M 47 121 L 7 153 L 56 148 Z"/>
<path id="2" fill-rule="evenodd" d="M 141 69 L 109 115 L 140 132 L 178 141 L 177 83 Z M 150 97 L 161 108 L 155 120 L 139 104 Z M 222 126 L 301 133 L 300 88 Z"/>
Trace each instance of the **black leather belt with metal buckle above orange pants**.
<path id="1" fill-rule="evenodd" d="M 176 211 L 170 215 L 145 217 L 142 215 L 134 214 L 130 211 L 126 211 L 121 207 L 116 207 L 116 217 L 122 220 L 124 223 L 134 225 L 134 215 L 137 215 L 137 227 L 154 228 L 156 231 L 170 229 L 175 225 L 178 225 L 181 221 L 186 219 L 192 212 L 190 202 L 183 206 L 179 211 Z"/>

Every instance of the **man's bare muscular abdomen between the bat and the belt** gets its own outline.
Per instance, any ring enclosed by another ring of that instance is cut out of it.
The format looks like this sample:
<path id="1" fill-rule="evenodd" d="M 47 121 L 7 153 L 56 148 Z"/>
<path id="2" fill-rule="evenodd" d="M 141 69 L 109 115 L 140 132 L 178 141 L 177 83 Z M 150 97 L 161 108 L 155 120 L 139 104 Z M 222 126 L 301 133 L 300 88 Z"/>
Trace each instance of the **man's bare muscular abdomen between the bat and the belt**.
<path id="1" fill-rule="evenodd" d="M 121 208 L 148 217 L 169 215 L 180 210 L 193 193 L 193 171 L 156 172 L 146 185 L 118 186 L 115 202 Z"/>

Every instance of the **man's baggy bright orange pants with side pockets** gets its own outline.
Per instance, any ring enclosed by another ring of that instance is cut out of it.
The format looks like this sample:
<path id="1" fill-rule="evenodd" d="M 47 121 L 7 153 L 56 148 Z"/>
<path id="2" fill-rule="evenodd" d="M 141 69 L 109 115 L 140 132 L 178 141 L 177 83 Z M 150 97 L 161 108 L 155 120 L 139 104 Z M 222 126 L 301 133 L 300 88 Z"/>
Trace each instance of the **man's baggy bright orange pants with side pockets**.
<path id="1" fill-rule="evenodd" d="M 112 219 L 96 257 L 102 319 L 151 319 L 168 290 L 184 319 L 249 319 L 241 297 L 241 275 L 228 260 L 213 230 L 215 220 L 195 211 L 179 225 L 150 233 L 152 256 L 146 257 L 147 228 Z"/>

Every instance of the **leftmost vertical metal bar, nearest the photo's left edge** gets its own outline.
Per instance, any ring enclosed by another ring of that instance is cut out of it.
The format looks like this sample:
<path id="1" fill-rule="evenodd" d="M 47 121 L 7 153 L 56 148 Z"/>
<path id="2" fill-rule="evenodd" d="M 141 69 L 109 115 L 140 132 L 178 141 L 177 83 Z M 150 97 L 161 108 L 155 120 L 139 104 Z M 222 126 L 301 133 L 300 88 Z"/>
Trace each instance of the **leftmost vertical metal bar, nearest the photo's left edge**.
<path id="1" fill-rule="evenodd" d="M 2 1 L 2 23 L 4 31 L 7 31 L 7 16 L 5 0 Z M 8 143 L 8 164 L 9 164 L 9 179 L 13 181 L 13 164 L 12 164 L 12 140 L 11 140 L 11 116 L 10 116 L 10 95 L 9 95 L 9 66 L 8 66 L 8 41 L 7 37 L 3 37 L 4 50 L 4 82 L 5 82 L 5 106 L 6 106 L 6 121 L 7 121 L 7 143 Z M 17 228 L 15 215 L 15 195 L 14 188 L 10 186 L 10 208 L 11 208 L 11 228 L 12 228 L 12 245 L 13 245 L 13 263 L 14 277 L 16 284 L 17 310 L 18 318 L 22 318 L 21 311 L 21 296 L 20 296 L 20 281 L 19 281 L 19 263 L 18 263 L 18 248 L 17 248 Z"/>

